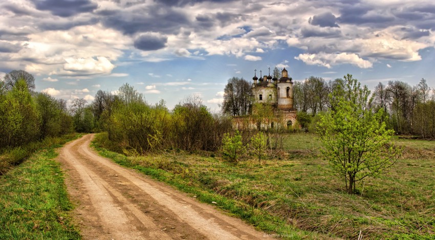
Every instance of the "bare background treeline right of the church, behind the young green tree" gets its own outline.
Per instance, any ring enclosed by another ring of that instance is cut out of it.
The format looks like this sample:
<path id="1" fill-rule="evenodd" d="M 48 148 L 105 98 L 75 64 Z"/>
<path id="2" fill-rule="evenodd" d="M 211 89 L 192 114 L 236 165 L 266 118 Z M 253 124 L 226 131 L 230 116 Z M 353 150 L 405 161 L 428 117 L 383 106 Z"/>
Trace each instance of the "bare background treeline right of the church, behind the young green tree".
<path id="1" fill-rule="evenodd" d="M 296 82 L 294 103 L 299 118 L 302 119 L 305 113 L 316 116 L 329 109 L 331 98 L 328 96 L 338 84 L 342 84 L 342 79 L 326 82 L 322 78 L 310 77 Z M 371 104 L 375 111 L 383 109 L 388 127 L 397 134 L 435 138 L 435 96 L 426 79 L 414 86 L 403 81 L 379 82 L 372 92 Z"/>

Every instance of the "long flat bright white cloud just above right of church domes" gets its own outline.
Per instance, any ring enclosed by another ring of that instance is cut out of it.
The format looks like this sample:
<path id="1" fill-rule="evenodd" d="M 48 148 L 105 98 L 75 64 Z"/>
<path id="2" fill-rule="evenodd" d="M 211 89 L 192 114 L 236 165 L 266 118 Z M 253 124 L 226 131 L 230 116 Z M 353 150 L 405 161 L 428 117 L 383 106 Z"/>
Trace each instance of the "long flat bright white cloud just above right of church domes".
<path id="1" fill-rule="evenodd" d="M 295 57 L 297 60 L 301 60 L 309 65 L 319 65 L 327 68 L 331 68 L 337 64 L 352 64 L 358 66 L 359 68 L 372 68 L 373 63 L 368 60 L 364 60 L 360 58 L 357 54 L 351 53 L 340 53 L 340 54 L 327 54 L 327 53 L 318 53 L 318 54 L 299 54 L 299 56 Z"/>

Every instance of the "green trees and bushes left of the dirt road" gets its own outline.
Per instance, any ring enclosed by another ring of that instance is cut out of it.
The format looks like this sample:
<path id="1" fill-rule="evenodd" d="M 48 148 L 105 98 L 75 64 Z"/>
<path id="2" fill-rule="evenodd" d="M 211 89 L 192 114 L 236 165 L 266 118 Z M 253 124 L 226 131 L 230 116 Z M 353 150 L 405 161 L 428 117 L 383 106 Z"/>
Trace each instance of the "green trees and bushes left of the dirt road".
<path id="1" fill-rule="evenodd" d="M 0 175 L 34 150 L 74 131 L 64 100 L 34 92 L 34 77 L 12 71 L 0 81 Z"/>

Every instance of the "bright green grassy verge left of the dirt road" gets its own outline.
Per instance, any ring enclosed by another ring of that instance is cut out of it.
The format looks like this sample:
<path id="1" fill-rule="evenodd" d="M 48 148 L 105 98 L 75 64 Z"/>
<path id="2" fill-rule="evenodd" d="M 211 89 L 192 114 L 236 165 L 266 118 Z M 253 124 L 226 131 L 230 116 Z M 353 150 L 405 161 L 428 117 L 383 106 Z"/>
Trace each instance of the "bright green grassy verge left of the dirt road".
<path id="1" fill-rule="evenodd" d="M 52 140 L 0 177 L 0 239 L 80 238 L 71 224 L 72 205 L 59 163 L 53 160 L 55 148 L 76 137 Z"/>

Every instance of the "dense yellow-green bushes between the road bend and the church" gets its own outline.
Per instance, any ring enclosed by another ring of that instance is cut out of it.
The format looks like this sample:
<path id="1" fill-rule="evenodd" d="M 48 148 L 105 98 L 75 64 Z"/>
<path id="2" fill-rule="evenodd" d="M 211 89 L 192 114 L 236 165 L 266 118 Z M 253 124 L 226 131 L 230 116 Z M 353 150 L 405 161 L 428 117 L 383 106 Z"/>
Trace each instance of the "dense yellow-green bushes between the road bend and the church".
<path id="1" fill-rule="evenodd" d="M 163 100 L 148 104 L 128 83 L 117 95 L 98 91 L 89 106 L 77 99 L 72 110 L 76 126 L 107 132 L 105 147 L 126 154 L 170 148 L 214 151 L 232 127 L 231 118 L 211 114 L 197 96 L 185 98 L 170 111 Z"/>

